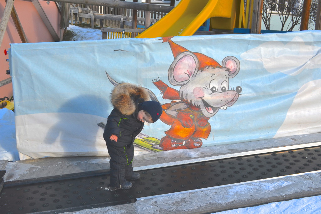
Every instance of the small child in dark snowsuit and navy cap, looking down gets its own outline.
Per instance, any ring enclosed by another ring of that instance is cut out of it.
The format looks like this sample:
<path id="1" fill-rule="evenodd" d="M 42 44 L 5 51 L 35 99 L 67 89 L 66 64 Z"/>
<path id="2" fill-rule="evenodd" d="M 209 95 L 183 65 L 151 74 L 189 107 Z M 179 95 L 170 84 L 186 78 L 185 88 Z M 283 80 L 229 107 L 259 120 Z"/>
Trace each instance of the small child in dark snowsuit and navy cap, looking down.
<path id="1" fill-rule="evenodd" d="M 154 123 L 162 114 L 159 102 L 149 100 L 146 89 L 131 83 L 121 83 L 111 92 L 114 109 L 104 131 L 110 156 L 110 186 L 129 189 L 140 174 L 133 171 L 134 140 L 143 130 L 144 122 Z M 148 101 L 149 100 L 149 101 Z"/>

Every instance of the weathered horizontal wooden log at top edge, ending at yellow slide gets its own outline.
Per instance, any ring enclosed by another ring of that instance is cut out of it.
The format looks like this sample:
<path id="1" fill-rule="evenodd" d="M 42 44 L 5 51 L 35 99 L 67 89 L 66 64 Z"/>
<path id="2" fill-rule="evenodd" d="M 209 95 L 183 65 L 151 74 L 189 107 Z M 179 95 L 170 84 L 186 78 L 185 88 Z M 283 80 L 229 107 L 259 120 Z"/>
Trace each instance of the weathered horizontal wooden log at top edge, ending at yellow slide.
<path id="1" fill-rule="evenodd" d="M 42 0 L 47 1 L 47 0 Z M 55 2 L 56 0 L 49 0 Z M 117 0 L 59 0 L 59 2 L 67 2 L 72 4 L 89 4 L 89 5 L 99 5 L 99 6 L 108 6 L 108 7 L 120 7 L 134 10 L 145 10 L 145 11 L 156 11 L 168 13 L 174 7 L 160 5 L 160 4 L 146 4 L 146 3 L 137 3 L 137 2 L 126 2 L 126 1 L 117 1 Z"/>

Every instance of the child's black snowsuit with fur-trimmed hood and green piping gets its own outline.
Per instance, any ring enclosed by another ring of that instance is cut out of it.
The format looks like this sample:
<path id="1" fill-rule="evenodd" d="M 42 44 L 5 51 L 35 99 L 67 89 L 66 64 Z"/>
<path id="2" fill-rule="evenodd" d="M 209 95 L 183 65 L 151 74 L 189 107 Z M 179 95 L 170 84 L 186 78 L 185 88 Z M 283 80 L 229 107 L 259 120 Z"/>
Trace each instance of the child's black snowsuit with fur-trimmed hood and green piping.
<path id="1" fill-rule="evenodd" d="M 148 93 L 143 88 L 136 87 L 129 83 L 122 83 L 116 86 L 112 92 L 114 109 L 108 116 L 103 135 L 110 156 L 110 185 L 112 187 L 121 188 L 126 182 L 126 178 L 131 177 L 134 173 L 133 142 L 144 126 L 144 123 L 137 120 L 139 103 L 149 99 Z M 128 88 L 130 88 L 129 92 Z M 117 142 L 109 139 L 111 134 L 118 137 Z"/>

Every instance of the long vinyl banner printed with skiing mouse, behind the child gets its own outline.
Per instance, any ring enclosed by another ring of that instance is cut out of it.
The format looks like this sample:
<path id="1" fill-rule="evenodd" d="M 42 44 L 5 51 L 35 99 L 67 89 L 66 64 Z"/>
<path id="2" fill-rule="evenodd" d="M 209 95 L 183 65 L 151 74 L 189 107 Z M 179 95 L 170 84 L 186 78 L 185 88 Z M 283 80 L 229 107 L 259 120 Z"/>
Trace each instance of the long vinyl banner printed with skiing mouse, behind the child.
<path id="1" fill-rule="evenodd" d="M 21 158 L 108 155 L 110 92 L 162 104 L 135 155 L 321 131 L 321 32 L 11 44 Z"/>

